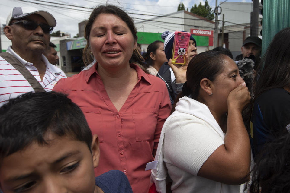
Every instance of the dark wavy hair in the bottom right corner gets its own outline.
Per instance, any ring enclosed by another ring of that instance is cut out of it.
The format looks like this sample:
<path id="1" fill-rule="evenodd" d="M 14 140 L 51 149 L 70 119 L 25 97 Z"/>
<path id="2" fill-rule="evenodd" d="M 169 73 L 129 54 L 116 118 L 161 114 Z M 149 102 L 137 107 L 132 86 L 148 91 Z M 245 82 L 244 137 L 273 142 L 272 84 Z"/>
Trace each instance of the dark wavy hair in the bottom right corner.
<path id="1" fill-rule="evenodd" d="M 290 190 L 290 134 L 266 143 L 256 156 L 250 193 L 280 193 Z M 261 187 L 261 191 L 259 188 Z"/>

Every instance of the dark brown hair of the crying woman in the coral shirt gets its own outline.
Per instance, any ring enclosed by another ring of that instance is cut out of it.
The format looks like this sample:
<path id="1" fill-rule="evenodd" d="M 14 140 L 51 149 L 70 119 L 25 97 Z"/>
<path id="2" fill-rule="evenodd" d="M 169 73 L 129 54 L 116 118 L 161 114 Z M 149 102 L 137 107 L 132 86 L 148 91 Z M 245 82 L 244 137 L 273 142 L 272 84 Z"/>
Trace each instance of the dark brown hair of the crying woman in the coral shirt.
<path id="1" fill-rule="evenodd" d="M 98 17 L 99 14 L 114 14 L 118 17 L 121 18 L 121 20 L 123 20 L 127 26 L 129 27 L 129 29 L 131 30 L 134 40 L 137 41 L 137 29 L 134 25 L 134 21 L 133 19 L 122 9 L 114 6 L 114 5 L 100 5 L 98 7 L 96 7 L 90 17 L 89 20 L 87 21 L 87 24 L 85 26 L 85 34 L 84 37 L 87 40 L 87 45 L 84 48 L 83 51 L 83 55 L 82 55 L 82 59 L 85 63 L 85 65 L 89 65 L 90 63 L 93 62 L 93 56 L 91 54 L 91 50 L 90 50 L 90 43 L 89 43 L 89 38 L 90 38 L 90 32 L 92 29 L 92 24 L 94 23 L 96 17 Z M 140 54 L 139 54 L 140 55 Z"/>

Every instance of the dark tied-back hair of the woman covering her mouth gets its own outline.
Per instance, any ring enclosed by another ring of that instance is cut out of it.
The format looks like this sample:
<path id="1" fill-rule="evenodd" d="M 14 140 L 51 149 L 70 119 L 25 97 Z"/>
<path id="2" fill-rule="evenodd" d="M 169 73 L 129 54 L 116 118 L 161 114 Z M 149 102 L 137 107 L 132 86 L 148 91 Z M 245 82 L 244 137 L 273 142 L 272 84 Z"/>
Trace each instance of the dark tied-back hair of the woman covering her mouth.
<path id="1" fill-rule="evenodd" d="M 224 59 L 227 56 L 218 51 L 206 51 L 196 55 L 188 64 L 186 71 L 186 82 L 182 87 L 181 93 L 176 97 L 172 108 L 174 111 L 176 103 L 183 96 L 189 96 L 197 100 L 200 90 L 200 81 L 208 78 L 214 81 L 222 72 Z"/>

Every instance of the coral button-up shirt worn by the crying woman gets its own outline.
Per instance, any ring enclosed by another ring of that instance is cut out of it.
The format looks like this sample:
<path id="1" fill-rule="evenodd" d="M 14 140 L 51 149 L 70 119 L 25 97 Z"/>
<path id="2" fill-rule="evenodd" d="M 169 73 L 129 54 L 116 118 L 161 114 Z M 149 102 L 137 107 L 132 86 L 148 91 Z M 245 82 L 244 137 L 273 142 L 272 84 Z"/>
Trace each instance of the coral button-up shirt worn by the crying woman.
<path id="1" fill-rule="evenodd" d="M 137 65 L 138 82 L 118 112 L 97 72 L 98 63 L 89 70 L 61 79 L 53 88 L 69 95 L 84 112 L 92 134 L 98 134 L 100 161 L 98 176 L 112 169 L 124 172 L 134 193 L 150 188 L 151 171 L 145 171 L 153 161 L 161 129 L 170 114 L 171 103 L 164 81 L 146 74 Z"/>

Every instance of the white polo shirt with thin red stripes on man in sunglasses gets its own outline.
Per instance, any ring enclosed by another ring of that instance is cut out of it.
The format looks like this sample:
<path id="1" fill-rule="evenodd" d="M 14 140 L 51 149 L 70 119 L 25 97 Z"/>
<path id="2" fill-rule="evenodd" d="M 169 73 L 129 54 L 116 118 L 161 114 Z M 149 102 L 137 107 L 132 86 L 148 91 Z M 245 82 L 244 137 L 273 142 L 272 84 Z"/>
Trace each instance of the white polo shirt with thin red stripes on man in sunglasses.
<path id="1" fill-rule="evenodd" d="M 66 78 L 66 74 L 58 67 L 50 64 L 47 58 L 42 55 L 41 60 L 46 65 L 45 75 L 43 80 L 40 80 L 40 75 L 37 68 L 30 62 L 22 59 L 11 46 L 8 47 L 7 52 L 14 55 L 31 74 L 39 81 L 41 86 L 46 91 L 51 91 L 54 85 L 61 78 Z M 29 82 L 16 70 L 10 63 L 0 57 L 0 106 L 10 98 L 15 98 L 18 95 L 34 91 Z"/>

